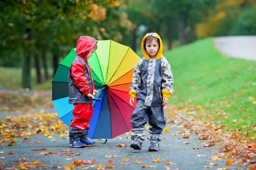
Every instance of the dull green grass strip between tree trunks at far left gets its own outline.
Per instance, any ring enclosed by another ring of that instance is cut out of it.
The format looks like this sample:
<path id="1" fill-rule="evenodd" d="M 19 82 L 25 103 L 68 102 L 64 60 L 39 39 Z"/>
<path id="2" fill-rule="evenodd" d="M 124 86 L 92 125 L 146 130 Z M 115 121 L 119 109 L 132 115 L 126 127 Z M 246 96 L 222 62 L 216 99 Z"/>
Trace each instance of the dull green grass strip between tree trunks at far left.
<path id="1" fill-rule="evenodd" d="M 20 68 L 4 68 L 0 67 L 0 87 L 9 89 L 20 89 L 22 82 L 22 70 Z M 42 71 L 43 74 L 43 71 Z M 52 70 L 49 70 L 49 75 L 52 74 Z M 45 81 L 42 84 L 36 84 L 36 72 L 35 69 L 31 70 L 32 75 L 32 90 L 51 90 L 52 78 Z M 43 74 L 44 75 L 44 74 Z"/>

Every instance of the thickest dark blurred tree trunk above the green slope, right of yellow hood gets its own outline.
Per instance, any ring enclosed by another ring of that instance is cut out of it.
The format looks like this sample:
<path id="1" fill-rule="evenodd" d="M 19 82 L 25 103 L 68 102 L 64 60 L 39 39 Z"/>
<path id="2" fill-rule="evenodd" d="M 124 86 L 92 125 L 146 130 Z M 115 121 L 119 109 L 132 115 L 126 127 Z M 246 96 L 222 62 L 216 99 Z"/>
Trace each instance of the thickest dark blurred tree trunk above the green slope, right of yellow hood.
<path id="1" fill-rule="evenodd" d="M 189 13 L 182 12 L 180 13 L 180 42 L 181 45 L 186 45 L 188 43 L 188 33 L 187 33 L 187 26 L 189 20 Z"/>

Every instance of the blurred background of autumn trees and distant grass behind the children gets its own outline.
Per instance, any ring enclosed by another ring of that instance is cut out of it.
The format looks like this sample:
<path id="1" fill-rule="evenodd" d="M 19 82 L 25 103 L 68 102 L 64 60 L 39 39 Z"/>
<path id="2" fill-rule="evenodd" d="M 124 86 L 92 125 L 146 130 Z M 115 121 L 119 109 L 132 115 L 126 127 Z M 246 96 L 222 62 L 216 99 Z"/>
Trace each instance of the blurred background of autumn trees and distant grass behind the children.
<path id="1" fill-rule="evenodd" d="M 81 35 L 112 39 L 141 56 L 157 32 L 164 51 L 206 37 L 255 35 L 256 0 L 1 0 L 0 87 L 51 89 Z"/>

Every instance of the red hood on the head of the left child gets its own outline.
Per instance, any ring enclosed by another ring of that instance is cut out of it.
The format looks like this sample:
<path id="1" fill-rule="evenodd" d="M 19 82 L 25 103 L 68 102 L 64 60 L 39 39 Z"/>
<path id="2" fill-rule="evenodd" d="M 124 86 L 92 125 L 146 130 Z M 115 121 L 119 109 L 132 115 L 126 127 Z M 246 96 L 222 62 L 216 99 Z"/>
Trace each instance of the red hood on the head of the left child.
<path id="1" fill-rule="evenodd" d="M 92 37 L 81 36 L 76 43 L 76 55 L 86 59 L 87 54 L 90 53 L 96 43 L 97 40 Z"/>

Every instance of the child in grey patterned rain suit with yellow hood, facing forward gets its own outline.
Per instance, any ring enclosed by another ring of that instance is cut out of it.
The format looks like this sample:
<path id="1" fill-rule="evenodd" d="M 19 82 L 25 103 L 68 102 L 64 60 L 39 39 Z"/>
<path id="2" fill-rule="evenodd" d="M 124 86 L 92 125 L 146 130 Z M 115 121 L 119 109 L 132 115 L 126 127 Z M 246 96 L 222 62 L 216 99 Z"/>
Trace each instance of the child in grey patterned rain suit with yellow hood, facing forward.
<path id="1" fill-rule="evenodd" d="M 133 105 L 137 97 L 137 104 L 131 116 L 131 147 L 141 150 L 145 140 L 144 126 L 148 122 L 151 144 L 149 151 L 158 151 L 159 142 L 163 137 L 166 117 L 163 107 L 173 92 L 173 77 L 169 62 L 163 57 L 163 44 L 156 33 L 148 33 L 141 42 L 143 58 L 134 68 L 132 84 L 130 86 L 130 104 Z"/>

